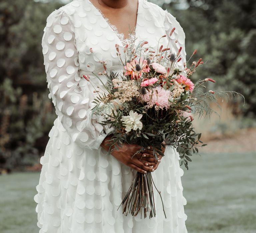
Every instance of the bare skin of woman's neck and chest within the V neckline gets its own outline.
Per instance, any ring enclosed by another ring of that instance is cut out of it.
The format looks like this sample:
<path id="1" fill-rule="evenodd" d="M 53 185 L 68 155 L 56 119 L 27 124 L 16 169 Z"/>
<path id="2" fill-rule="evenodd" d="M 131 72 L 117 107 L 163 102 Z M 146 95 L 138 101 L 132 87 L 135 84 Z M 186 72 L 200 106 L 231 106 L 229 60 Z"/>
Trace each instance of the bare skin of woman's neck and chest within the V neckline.
<path id="1" fill-rule="evenodd" d="M 129 37 L 129 25 L 132 31 L 136 26 L 138 0 L 90 0 L 99 8 L 110 23 L 117 27 L 125 38 Z"/>

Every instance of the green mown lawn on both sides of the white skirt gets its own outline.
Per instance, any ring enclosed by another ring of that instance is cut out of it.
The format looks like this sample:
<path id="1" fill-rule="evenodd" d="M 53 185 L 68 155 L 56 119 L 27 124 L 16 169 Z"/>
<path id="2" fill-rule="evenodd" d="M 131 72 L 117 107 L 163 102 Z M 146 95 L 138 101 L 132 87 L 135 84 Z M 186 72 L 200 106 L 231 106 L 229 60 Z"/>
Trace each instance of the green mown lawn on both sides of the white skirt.
<path id="1" fill-rule="evenodd" d="M 256 153 L 204 153 L 192 160 L 182 177 L 188 233 L 256 233 Z M 38 179 L 29 172 L 0 176 L 1 233 L 38 233 Z"/>

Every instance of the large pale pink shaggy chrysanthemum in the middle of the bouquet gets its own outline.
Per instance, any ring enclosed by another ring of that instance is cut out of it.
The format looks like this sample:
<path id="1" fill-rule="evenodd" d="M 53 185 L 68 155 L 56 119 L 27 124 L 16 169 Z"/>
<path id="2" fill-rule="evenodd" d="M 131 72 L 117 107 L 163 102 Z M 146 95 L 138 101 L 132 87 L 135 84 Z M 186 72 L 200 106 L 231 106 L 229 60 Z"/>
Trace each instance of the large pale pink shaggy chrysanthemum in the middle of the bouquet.
<path id="1" fill-rule="evenodd" d="M 155 106 L 156 110 L 164 108 L 168 109 L 170 105 L 170 97 L 170 91 L 157 87 L 153 90 L 147 90 L 145 95 L 141 95 L 141 100 L 147 103 L 146 106 L 148 108 Z"/>

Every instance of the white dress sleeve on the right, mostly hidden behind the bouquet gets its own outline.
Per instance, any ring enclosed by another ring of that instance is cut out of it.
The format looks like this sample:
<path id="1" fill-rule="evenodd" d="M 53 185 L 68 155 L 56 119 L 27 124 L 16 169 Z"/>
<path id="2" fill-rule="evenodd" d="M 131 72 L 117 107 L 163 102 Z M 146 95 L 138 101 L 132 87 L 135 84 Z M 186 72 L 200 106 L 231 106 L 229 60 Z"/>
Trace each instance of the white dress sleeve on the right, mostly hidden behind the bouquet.
<path id="1" fill-rule="evenodd" d="M 173 47 L 175 54 L 178 52 L 179 48 L 182 47 L 180 55 L 181 55 L 181 61 L 178 62 L 178 67 L 180 70 L 184 69 L 184 62 L 186 63 L 186 50 L 185 50 L 185 33 L 183 28 L 180 26 L 179 22 L 176 20 L 176 18 L 171 15 L 167 10 L 165 10 L 165 20 L 164 20 L 164 28 L 167 35 L 167 39 L 169 40 L 170 32 L 173 28 L 175 28 L 174 32 L 171 35 L 170 43 L 169 45 Z M 175 41 L 177 40 L 177 43 Z M 173 51 L 173 52 L 174 52 Z M 185 66 L 186 67 L 186 66 Z M 183 72 L 186 74 L 186 72 Z"/>

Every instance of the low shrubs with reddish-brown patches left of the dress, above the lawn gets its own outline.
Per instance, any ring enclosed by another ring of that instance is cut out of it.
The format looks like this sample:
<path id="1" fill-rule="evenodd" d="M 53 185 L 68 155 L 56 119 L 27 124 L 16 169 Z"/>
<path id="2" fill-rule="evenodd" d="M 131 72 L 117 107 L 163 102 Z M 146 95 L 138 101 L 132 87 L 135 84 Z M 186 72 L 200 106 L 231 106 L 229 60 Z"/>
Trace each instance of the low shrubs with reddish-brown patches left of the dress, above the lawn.
<path id="1" fill-rule="evenodd" d="M 13 88 L 10 79 L 0 86 L 0 168 L 33 165 L 44 152 L 49 129 L 56 118 L 47 93 L 32 99 Z"/>

